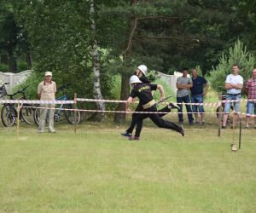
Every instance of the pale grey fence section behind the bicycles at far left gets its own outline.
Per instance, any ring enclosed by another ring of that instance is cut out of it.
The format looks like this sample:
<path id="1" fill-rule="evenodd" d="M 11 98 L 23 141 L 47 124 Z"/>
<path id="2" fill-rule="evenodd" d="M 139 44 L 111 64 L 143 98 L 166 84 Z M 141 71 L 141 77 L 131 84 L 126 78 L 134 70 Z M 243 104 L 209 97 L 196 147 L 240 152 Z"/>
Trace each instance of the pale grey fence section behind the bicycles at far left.
<path id="1" fill-rule="evenodd" d="M 31 72 L 32 70 L 26 70 L 19 73 L 0 72 L 0 86 L 3 83 L 9 83 L 8 85 L 6 85 L 6 89 L 8 91 L 11 91 L 19 83 L 22 83 L 24 80 L 26 80 L 26 78 L 29 76 Z"/>

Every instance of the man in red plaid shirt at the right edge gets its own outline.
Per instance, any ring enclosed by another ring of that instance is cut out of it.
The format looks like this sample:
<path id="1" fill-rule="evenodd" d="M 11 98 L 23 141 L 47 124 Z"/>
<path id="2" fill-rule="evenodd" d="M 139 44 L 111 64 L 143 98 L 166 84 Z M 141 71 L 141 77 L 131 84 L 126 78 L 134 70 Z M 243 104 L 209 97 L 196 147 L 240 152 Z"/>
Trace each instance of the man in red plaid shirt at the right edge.
<path id="1" fill-rule="evenodd" d="M 253 69 L 253 78 L 247 80 L 245 93 L 248 97 L 247 101 L 247 119 L 246 129 L 249 129 L 249 119 L 254 108 L 254 116 L 256 116 L 256 69 Z M 254 129 L 256 129 L 256 117 L 254 117 Z"/>

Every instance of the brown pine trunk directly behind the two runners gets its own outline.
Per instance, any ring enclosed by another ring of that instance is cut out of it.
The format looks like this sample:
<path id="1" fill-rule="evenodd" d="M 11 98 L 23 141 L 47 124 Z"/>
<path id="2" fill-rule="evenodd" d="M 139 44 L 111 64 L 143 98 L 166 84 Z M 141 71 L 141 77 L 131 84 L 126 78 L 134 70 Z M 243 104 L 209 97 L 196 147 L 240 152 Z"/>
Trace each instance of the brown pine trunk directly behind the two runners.
<path id="1" fill-rule="evenodd" d="M 137 3 L 137 0 L 131 0 L 131 4 L 136 4 L 136 3 Z M 124 66 L 125 66 L 126 60 L 131 57 L 131 42 L 132 42 L 132 37 L 133 37 L 133 34 L 134 34 L 136 28 L 137 28 L 137 18 L 135 15 L 131 15 L 130 27 L 128 30 L 128 45 L 123 54 L 123 56 L 124 56 L 123 65 Z M 122 85 L 121 85 L 120 99 L 123 101 L 127 100 L 129 93 L 130 93 L 129 78 L 128 78 L 127 74 L 122 73 Z M 125 111 L 125 103 L 119 103 L 119 107 L 116 108 L 116 111 Z M 114 115 L 114 121 L 118 124 L 124 123 L 125 116 L 126 116 L 125 113 L 116 112 Z"/>

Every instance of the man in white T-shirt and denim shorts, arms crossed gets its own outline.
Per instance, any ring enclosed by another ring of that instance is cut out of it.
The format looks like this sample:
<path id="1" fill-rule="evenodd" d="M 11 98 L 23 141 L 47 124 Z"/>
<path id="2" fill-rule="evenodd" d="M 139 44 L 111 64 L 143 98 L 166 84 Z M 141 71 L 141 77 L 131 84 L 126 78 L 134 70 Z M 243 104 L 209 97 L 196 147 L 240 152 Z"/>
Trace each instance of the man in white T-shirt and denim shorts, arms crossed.
<path id="1" fill-rule="evenodd" d="M 239 75 L 239 66 L 232 66 L 232 74 L 228 75 L 225 81 L 225 89 L 227 89 L 226 101 L 235 101 L 235 118 L 237 118 L 237 112 L 240 110 L 241 89 L 243 86 L 243 78 Z M 227 119 L 230 112 L 231 102 L 226 102 L 224 106 L 224 116 L 222 129 L 226 128 Z M 237 120 L 237 119 L 236 119 Z M 233 124 L 236 127 L 236 123 Z"/>

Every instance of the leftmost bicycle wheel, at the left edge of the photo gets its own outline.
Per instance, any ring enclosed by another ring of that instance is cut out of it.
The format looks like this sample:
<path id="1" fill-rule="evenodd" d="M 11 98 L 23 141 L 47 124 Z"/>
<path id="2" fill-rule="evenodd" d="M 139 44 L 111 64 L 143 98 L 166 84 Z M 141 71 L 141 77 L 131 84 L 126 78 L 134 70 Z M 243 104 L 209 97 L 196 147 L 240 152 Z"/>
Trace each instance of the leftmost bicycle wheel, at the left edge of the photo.
<path id="1" fill-rule="evenodd" d="M 3 106 L 1 110 L 1 119 L 4 126 L 10 127 L 15 124 L 16 110 L 10 105 Z"/>

